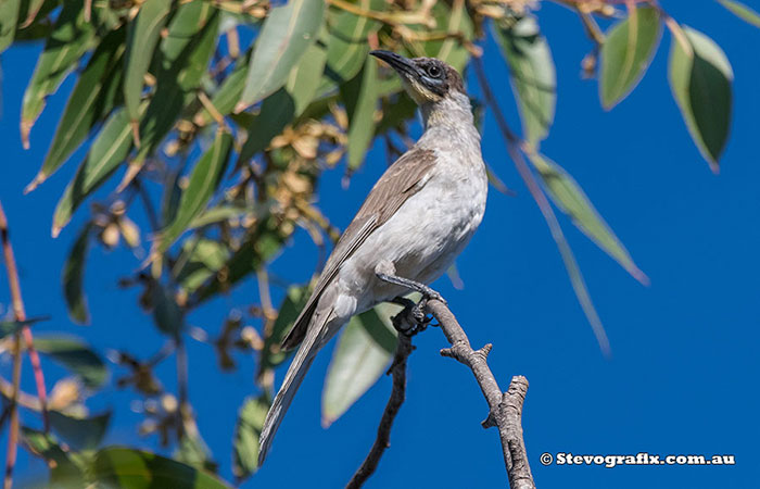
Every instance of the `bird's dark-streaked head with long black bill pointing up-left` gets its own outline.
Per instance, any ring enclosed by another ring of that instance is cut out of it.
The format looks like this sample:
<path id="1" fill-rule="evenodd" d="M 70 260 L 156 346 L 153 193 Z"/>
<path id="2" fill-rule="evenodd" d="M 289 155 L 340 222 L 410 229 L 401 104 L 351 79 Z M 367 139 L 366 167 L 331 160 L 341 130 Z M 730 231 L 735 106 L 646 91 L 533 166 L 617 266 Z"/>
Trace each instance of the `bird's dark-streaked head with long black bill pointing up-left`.
<path id="1" fill-rule="evenodd" d="M 408 59 L 391 51 L 376 50 L 371 55 L 388 63 L 398 73 L 406 92 L 418 105 L 435 104 L 455 96 L 465 95 L 461 76 L 435 58 Z"/>

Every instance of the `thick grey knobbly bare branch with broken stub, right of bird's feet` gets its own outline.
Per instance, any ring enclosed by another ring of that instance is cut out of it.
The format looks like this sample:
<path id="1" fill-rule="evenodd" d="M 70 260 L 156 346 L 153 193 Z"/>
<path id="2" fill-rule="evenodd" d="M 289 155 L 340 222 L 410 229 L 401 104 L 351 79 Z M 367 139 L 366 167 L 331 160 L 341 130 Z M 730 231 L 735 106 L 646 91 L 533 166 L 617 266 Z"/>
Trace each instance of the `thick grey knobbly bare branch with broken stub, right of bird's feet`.
<path id="1" fill-rule="evenodd" d="M 472 371 L 478 386 L 489 403 L 489 417 L 482 425 L 484 428 L 492 426 L 498 428 L 509 487 L 511 489 L 535 489 L 533 475 L 528 463 L 525 443 L 522 439 L 521 415 L 522 403 L 528 391 L 528 379 L 522 376 L 514 377 L 508 391 L 504 393 L 486 363 L 492 346 L 486 344 L 480 350 L 473 350 L 465 330 L 444 302 L 431 299 L 427 303 L 427 310 L 439 321 L 441 330 L 452 344 L 451 348 L 441 350 L 441 354 L 456 359 Z"/>

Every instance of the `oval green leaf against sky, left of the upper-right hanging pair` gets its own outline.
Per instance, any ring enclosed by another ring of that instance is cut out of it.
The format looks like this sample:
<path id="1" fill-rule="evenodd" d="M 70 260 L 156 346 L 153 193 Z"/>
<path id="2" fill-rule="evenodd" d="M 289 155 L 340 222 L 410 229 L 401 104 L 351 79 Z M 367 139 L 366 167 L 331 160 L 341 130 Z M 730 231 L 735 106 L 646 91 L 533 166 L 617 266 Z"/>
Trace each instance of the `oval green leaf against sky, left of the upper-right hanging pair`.
<path id="1" fill-rule="evenodd" d="M 599 97 L 612 109 L 644 76 L 662 34 L 660 14 L 654 7 L 639 7 L 616 24 L 601 46 Z"/>

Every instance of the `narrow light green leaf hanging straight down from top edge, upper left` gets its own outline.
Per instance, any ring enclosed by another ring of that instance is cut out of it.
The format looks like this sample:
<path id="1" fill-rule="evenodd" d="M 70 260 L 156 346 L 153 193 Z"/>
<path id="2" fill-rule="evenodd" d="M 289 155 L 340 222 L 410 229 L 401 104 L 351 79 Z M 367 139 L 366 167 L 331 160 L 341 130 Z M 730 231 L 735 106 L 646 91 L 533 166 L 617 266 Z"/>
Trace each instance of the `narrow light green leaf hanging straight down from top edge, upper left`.
<path id="1" fill-rule="evenodd" d="M 170 8 L 172 0 L 148 0 L 140 5 L 140 12 L 129 24 L 124 58 L 124 102 L 134 127 L 137 127 L 137 121 L 140 120 L 143 78 Z"/>

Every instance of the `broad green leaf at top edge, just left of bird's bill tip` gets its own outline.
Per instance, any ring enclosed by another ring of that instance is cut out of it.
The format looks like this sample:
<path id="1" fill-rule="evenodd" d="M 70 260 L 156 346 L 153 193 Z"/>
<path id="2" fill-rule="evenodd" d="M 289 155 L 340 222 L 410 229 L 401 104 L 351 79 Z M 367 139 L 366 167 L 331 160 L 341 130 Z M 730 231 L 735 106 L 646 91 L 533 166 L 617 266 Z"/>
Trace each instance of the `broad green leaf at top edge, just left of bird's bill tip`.
<path id="1" fill-rule="evenodd" d="M 365 11 L 381 11 L 384 8 L 384 1 L 358 0 L 356 8 Z M 327 68 L 319 93 L 325 92 L 333 83 L 340 85 L 359 73 L 369 53 L 367 36 L 378 30 L 381 24 L 364 15 L 335 10 L 330 12 L 330 22 L 327 26 L 329 30 L 329 37 L 325 41 Z"/>

